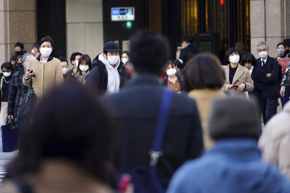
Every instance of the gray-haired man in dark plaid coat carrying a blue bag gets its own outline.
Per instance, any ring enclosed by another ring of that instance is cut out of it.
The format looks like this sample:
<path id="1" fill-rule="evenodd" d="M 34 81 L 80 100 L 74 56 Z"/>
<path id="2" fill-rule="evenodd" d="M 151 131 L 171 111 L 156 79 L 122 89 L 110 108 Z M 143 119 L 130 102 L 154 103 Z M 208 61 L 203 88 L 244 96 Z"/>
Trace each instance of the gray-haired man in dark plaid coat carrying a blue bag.
<path id="1" fill-rule="evenodd" d="M 22 77 L 26 72 L 27 64 L 31 58 L 34 58 L 35 54 L 32 52 L 26 52 L 22 56 L 22 68 L 15 72 L 11 79 L 11 84 L 8 87 L 8 119 L 11 117 L 12 119 L 17 119 L 18 116 L 18 108 L 19 102 L 23 93 L 27 93 L 28 87 L 24 87 L 22 82 Z M 29 129 L 29 121 L 18 121 L 18 148 L 23 147 L 23 143 L 25 143 L 24 136 L 27 134 L 27 130 Z"/>

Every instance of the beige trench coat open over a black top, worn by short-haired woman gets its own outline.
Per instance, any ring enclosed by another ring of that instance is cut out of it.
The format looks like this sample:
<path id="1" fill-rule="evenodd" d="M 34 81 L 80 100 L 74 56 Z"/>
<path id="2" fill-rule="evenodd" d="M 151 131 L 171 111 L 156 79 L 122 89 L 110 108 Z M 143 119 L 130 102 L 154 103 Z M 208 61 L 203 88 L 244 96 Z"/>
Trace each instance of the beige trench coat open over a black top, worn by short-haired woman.
<path id="1" fill-rule="evenodd" d="M 226 75 L 226 80 L 224 81 L 224 85 L 221 87 L 222 91 L 227 91 L 228 87 L 230 85 L 230 79 L 229 79 L 229 74 L 230 74 L 230 64 L 226 66 L 221 66 L 224 69 L 225 75 Z M 254 90 L 254 84 L 251 78 L 250 71 L 245 67 L 241 66 L 238 64 L 237 71 L 234 75 L 232 85 L 237 84 L 243 84 L 246 83 L 247 87 L 243 90 L 243 94 L 245 94 L 246 91 L 253 91 Z"/>

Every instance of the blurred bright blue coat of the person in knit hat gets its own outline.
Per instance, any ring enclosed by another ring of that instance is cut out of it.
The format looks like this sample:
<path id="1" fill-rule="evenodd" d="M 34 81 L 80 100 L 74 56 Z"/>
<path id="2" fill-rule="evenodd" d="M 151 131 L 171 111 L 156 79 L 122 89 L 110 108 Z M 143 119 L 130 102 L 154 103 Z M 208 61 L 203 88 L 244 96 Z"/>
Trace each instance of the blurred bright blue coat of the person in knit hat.
<path id="1" fill-rule="evenodd" d="M 216 141 L 203 156 L 178 169 L 167 193 L 290 192 L 290 184 L 279 169 L 261 160 L 256 142 L 251 138 Z"/>

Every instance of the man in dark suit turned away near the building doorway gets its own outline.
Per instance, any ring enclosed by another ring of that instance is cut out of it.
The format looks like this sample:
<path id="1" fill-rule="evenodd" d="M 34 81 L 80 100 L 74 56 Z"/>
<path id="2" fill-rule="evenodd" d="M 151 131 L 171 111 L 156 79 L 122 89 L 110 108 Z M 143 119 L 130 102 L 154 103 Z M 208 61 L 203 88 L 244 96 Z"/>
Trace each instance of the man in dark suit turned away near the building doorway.
<path id="1" fill-rule="evenodd" d="M 192 39 L 189 36 L 182 38 L 182 47 L 180 50 L 179 60 L 185 67 L 187 62 L 193 58 L 195 54 L 199 53 L 199 50 L 192 45 Z"/>

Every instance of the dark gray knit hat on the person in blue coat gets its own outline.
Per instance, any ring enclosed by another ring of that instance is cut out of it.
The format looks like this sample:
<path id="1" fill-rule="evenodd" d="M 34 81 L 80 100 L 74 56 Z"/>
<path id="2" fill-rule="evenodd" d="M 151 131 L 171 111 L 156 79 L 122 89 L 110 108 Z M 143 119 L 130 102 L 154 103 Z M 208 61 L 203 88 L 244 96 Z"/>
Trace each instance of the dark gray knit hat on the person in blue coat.
<path id="1" fill-rule="evenodd" d="M 261 123 L 257 106 L 240 98 L 216 100 L 209 121 L 209 135 L 213 139 L 250 137 L 258 140 Z"/>

